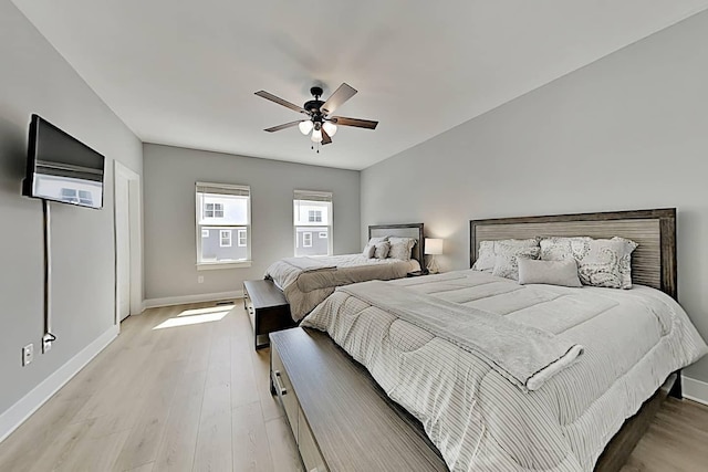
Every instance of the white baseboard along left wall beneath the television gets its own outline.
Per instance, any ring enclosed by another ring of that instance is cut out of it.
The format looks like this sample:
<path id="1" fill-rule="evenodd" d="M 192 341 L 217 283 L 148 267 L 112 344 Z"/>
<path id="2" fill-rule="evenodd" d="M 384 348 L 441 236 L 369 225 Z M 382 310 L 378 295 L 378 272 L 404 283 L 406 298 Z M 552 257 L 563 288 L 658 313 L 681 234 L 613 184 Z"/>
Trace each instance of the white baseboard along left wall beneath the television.
<path id="1" fill-rule="evenodd" d="M 98 336 L 93 343 L 84 347 L 79 354 L 69 359 L 66 364 L 46 377 L 17 403 L 0 415 L 0 442 L 12 433 L 46 400 L 72 379 L 86 364 L 101 353 L 118 335 L 118 326 L 111 326 L 108 331 Z"/>

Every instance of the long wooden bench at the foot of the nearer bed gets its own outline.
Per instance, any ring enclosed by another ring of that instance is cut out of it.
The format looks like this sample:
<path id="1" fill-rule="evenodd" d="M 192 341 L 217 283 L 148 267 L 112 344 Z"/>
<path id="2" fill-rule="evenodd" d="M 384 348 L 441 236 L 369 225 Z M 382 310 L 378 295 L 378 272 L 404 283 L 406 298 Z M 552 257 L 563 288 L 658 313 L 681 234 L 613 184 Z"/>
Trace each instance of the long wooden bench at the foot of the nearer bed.
<path id="1" fill-rule="evenodd" d="M 271 333 L 271 392 L 309 472 L 447 471 L 421 424 L 324 333 Z"/>

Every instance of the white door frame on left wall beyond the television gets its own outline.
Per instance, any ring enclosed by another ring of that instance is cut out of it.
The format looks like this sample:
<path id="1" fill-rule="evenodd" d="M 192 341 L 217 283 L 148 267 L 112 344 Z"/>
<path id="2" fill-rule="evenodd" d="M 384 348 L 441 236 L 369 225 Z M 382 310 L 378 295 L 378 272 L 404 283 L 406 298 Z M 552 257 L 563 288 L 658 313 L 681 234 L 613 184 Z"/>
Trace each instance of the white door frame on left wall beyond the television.
<path id="1" fill-rule="evenodd" d="M 117 180 L 124 179 L 128 185 L 128 221 L 131 248 L 129 275 L 131 275 L 131 315 L 139 315 L 143 312 L 143 196 L 140 176 L 128 169 L 117 160 L 114 160 L 113 174 L 113 230 L 114 230 L 114 276 L 115 276 L 115 300 L 114 300 L 114 324 L 121 329 L 121 314 L 118 313 L 118 222 L 117 222 Z"/>

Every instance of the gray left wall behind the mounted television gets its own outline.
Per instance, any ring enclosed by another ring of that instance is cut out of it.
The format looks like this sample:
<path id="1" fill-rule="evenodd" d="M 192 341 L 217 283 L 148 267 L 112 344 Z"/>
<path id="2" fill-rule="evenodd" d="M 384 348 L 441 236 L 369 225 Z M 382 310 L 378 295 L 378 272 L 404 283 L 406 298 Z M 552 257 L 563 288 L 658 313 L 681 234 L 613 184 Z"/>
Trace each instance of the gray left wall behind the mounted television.
<path id="1" fill-rule="evenodd" d="M 10 0 L 0 0 L 0 413 L 114 321 L 113 160 L 142 172 L 140 141 Z M 52 206 L 53 331 L 43 334 L 42 207 L 20 196 L 30 114 L 106 156 L 103 210 Z M 22 367 L 22 346 L 34 361 Z"/>

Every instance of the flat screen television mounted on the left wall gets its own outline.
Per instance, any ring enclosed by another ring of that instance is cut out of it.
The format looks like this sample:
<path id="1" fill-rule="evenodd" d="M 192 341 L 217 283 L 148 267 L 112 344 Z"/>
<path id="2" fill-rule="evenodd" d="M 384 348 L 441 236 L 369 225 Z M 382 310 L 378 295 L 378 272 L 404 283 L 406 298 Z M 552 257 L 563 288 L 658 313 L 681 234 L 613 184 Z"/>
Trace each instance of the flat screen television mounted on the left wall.
<path id="1" fill-rule="evenodd" d="M 103 208 L 104 157 L 46 119 L 32 115 L 23 195 Z"/>

